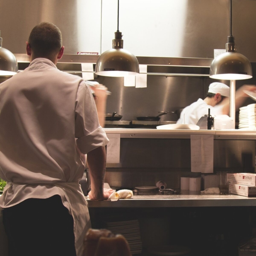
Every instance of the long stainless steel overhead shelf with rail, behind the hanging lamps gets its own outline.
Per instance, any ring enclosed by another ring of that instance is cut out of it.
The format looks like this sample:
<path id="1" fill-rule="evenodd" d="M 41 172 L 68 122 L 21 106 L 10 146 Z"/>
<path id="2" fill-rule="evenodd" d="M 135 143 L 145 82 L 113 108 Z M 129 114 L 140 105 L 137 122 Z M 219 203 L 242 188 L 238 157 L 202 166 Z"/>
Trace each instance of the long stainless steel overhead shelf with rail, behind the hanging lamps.
<path id="1" fill-rule="evenodd" d="M 29 63 L 29 56 L 16 53 L 15 57 L 19 65 L 19 71 L 24 70 Z M 83 63 L 95 64 L 99 55 L 64 54 L 58 60 L 57 67 L 68 73 L 83 73 Z M 174 58 L 174 57 L 146 57 L 137 56 L 139 64 L 147 65 L 147 72 L 150 76 L 209 76 L 209 67 L 212 58 Z"/>

